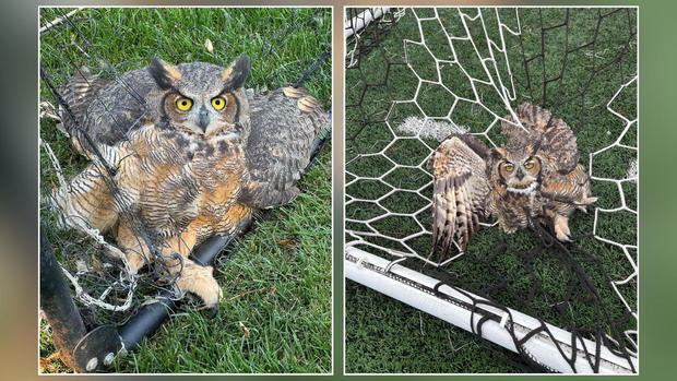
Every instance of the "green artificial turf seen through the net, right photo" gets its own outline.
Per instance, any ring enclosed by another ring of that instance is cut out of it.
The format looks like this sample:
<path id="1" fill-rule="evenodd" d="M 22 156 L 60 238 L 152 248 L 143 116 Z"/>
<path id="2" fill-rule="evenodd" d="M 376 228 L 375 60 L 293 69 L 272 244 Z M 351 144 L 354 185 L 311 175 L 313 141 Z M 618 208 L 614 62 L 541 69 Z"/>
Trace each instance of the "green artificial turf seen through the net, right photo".
<path id="1" fill-rule="evenodd" d="M 602 10 L 602 13 L 610 11 Z M 473 9 L 464 12 L 471 15 L 477 13 Z M 415 13 L 418 17 L 435 16 L 431 9 L 415 9 Z M 449 35 L 466 36 L 456 9 L 438 9 L 438 20 L 424 20 L 419 25 L 414 13 L 407 10 L 387 34 L 373 33 L 373 27 L 361 33 L 365 45 L 376 40 L 379 44 L 376 48 L 366 50 L 358 66 L 346 70 L 346 170 L 351 172 L 346 175 L 346 181 L 353 181 L 355 176 L 380 177 L 388 170 L 395 169 L 382 179 L 359 179 L 347 187 L 348 197 L 379 200 L 378 203 L 354 202 L 346 205 L 347 218 L 376 218 L 369 224 L 349 222 L 346 224 L 347 229 L 376 230 L 400 239 L 420 231 L 417 223 L 428 228 L 431 225 L 429 209 L 425 209 L 427 201 L 412 191 L 420 190 L 428 197 L 431 194 L 431 184 L 426 186 L 431 177 L 426 172 L 425 160 L 430 150 L 439 143 L 431 140 L 424 140 L 421 143 L 397 131 L 396 127 L 406 117 L 428 116 L 444 119 L 449 116 L 456 124 L 466 126 L 474 133 L 484 132 L 495 120 L 491 112 L 462 99 L 450 112 L 454 96 L 474 99 L 475 95 L 471 82 L 458 64 L 441 62 L 438 73 L 433 57 L 441 60 L 452 60 L 454 57 L 442 26 Z M 503 23 L 516 29 L 513 9 L 500 9 L 499 15 Z M 621 134 L 623 122 L 607 112 L 605 107 L 621 84 L 637 73 L 636 37 L 627 47 L 622 60 L 622 78 L 621 66 L 615 62 L 616 56 L 626 49 L 625 43 L 630 37 L 628 24 L 634 27 L 637 15 L 633 11 L 629 14 L 630 20 L 625 11 L 604 15 L 596 45 L 574 50 L 575 47 L 593 40 L 597 15 L 597 10 L 594 9 L 571 9 L 568 35 L 563 27 L 547 29 L 543 37 L 545 60 L 536 58 L 528 63 L 528 82 L 522 48 L 526 57 L 536 56 L 541 51 L 541 21 L 543 20 L 544 28 L 558 25 L 565 21 L 565 10 L 544 9 L 541 17 L 538 10 L 521 9 L 522 41 L 519 37 L 506 37 L 508 60 L 516 81 L 518 99 L 512 103 L 513 107 L 523 102 L 545 103 L 553 107 L 561 100 L 557 117 L 562 118 L 577 132 L 581 163 L 584 166 L 589 165 L 590 153 L 613 144 Z M 485 11 L 483 16 L 488 25 L 488 35 L 498 40 L 494 11 Z M 484 39 L 484 31 L 478 21 L 468 22 L 468 32 L 476 40 Z M 563 41 L 567 37 L 570 51 L 560 81 L 558 78 L 562 73 Z M 421 39 L 425 39 L 425 46 L 416 44 Z M 404 40 L 408 41 L 405 44 Z M 453 47 L 455 57 L 463 63 L 467 74 L 479 80 L 487 79 L 470 43 L 454 40 Z M 593 48 L 596 48 L 596 53 Z M 488 57 L 486 44 L 477 45 L 477 49 L 483 57 Z M 405 61 L 405 51 L 411 69 Z M 499 67 L 504 68 L 503 59 L 497 57 L 497 60 Z M 589 82 L 593 71 L 595 75 Z M 500 75 L 503 83 L 510 83 L 504 70 Z M 423 82 L 416 96 L 419 78 L 430 82 Z M 556 81 L 547 85 L 544 98 L 542 84 L 553 79 Z M 477 82 L 475 85 L 483 105 L 498 116 L 508 114 L 491 87 Z M 613 108 L 633 119 L 637 116 L 636 99 L 637 87 L 629 86 L 616 98 Z M 385 122 L 390 124 L 392 132 Z M 487 135 L 497 144 L 503 142 L 498 124 Z M 637 126 L 629 129 L 622 143 L 637 146 Z M 382 155 L 364 156 L 382 151 Z M 622 179 L 633 158 L 637 158 L 636 151 L 613 147 L 594 157 L 593 175 Z M 395 164 L 414 168 L 396 167 Z M 616 183 L 593 181 L 592 186 L 593 194 L 599 197 L 596 206 L 621 206 L 621 194 Z M 409 191 L 397 191 L 382 198 L 393 187 Z M 626 181 L 621 189 L 627 205 L 637 210 L 637 183 Z M 412 216 L 383 216 L 385 211 L 412 214 L 421 209 L 423 212 Z M 602 274 L 606 272 L 611 279 L 625 279 L 632 273 L 632 269 L 618 247 L 592 237 L 593 222 L 593 213 L 577 212 L 572 216 L 570 227 L 575 245 L 567 245 L 566 248 L 575 261 L 556 247 L 543 247 L 533 231 L 506 235 L 497 228 L 482 227 L 468 245 L 467 253 L 448 265 L 444 271 L 458 277 L 456 285 L 486 294 L 508 307 L 537 314 L 545 321 L 566 329 L 572 324 L 593 330 L 604 318 L 601 309 L 595 307 L 596 302 L 601 302 L 604 313 L 618 324 L 621 332 L 636 329 L 637 321 L 626 319 L 628 313 L 625 307 Z M 636 245 L 637 216 L 626 211 L 601 213 L 597 234 L 623 245 Z M 349 235 L 346 236 L 347 241 L 353 239 Z M 365 240 L 388 249 L 408 251 L 394 240 L 375 237 L 365 237 Z M 409 238 L 405 242 L 424 258 L 430 252 L 430 236 Z M 370 251 L 366 246 L 360 248 Z M 629 251 L 637 262 L 637 251 Z M 377 253 L 388 257 L 383 251 L 377 250 Z M 408 261 L 405 265 L 420 267 L 420 262 Z M 429 272 L 430 266 L 421 271 Z M 581 272 L 584 274 L 582 277 L 577 275 Z M 581 284 L 587 281 L 596 288 L 597 301 L 589 300 L 589 296 L 582 291 Z M 506 287 L 492 288 L 499 282 L 504 282 Z M 567 297 L 570 288 L 573 293 Z M 527 300 L 530 293 L 533 293 L 533 297 Z M 621 286 L 620 293 L 630 306 L 637 306 L 636 283 Z M 567 308 L 560 311 L 553 305 L 561 300 L 568 303 L 565 303 Z M 468 334 L 352 282 L 346 286 L 346 308 L 348 372 L 520 371 L 506 365 L 500 356 L 486 356 L 486 348 L 473 349 L 473 355 L 470 356 L 454 352 L 450 341 L 465 343 Z M 395 310 L 396 313 L 393 312 Z M 449 336 L 442 334 L 443 331 L 448 331 Z M 396 348 L 382 350 L 393 345 L 396 345 Z M 455 344 L 453 346 L 456 347 Z"/>

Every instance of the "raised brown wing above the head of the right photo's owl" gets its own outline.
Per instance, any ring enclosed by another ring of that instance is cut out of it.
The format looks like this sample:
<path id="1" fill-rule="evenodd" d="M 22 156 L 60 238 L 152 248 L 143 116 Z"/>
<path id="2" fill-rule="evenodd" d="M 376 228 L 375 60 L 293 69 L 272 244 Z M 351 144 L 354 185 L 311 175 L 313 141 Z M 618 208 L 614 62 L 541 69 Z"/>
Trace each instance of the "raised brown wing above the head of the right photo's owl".
<path id="1" fill-rule="evenodd" d="M 522 104 L 516 111 L 522 124 L 534 136 L 539 136 L 539 150 L 544 153 L 539 156 L 546 158 L 545 167 L 562 175 L 574 170 L 579 164 L 579 150 L 571 128 L 536 105 Z"/>

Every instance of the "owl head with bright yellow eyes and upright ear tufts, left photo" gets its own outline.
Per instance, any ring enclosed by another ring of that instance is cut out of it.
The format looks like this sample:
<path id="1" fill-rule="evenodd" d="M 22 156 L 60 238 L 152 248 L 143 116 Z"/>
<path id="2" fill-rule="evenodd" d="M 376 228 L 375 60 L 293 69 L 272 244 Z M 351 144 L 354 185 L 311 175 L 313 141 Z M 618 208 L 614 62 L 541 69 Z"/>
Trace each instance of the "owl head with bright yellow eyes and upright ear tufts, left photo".
<path id="1" fill-rule="evenodd" d="M 167 128 L 191 135 L 246 138 L 249 105 L 242 84 L 249 68 L 247 56 L 240 56 L 225 69 L 205 62 L 175 67 L 153 59 L 149 72 L 163 92 L 161 120 L 167 122 Z"/>

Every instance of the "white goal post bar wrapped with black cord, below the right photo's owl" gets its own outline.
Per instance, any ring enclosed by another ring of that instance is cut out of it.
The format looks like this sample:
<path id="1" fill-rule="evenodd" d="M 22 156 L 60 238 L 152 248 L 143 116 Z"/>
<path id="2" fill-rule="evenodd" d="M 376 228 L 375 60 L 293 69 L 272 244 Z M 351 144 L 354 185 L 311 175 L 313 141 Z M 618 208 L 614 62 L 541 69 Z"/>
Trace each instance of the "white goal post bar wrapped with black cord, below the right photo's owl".
<path id="1" fill-rule="evenodd" d="M 482 323 L 482 337 L 515 353 L 519 350 L 510 332 L 512 331 L 516 338 L 521 340 L 542 325 L 537 319 L 527 314 L 512 309 L 508 309 L 508 313 L 502 309 L 485 303 L 482 303 L 480 308 L 473 312 L 467 307 L 468 305 L 473 306 L 473 300 L 487 299 L 448 285 L 442 285 L 437 289 L 444 296 L 440 297 L 430 291 L 439 284 L 438 279 L 400 264 L 393 264 L 392 261 L 355 247 L 346 247 L 344 262 L 345 276 L 348 279 L 432 314 L 465 331 L 478 332 L 480 325 L 478 322 L 485 314 L 501 317 L 500 322 L 487 319 Z M 575 368 L 573 369 L 563 357 L 572 358 L 572 334 L 551 324 L 546 323 L 546 326 L 549 334 L 547 331 L 534 334 L 522 345 L 523 352 L 536 362 L 562 373 L 594 372 L 591 362 L 594 364 L 592 358 L 596 353 L 595 342 L 577 337 Z M 560 349 L 562 354 L 560 354 Z M 631 368 L 627 358 L 611 353 L 605 346 L 601 346 L 599 357 L 599 373 L 632 373 L 632 368 L 634 372 L 639 369 L 636 357 L 630 357 Z"/>

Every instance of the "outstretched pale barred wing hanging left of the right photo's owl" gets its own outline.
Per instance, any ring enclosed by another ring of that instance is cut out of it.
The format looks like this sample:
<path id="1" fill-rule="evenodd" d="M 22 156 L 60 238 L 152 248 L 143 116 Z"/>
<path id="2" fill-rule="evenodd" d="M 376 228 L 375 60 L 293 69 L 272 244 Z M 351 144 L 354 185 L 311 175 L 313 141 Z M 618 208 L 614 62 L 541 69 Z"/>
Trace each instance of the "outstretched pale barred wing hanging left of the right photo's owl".
<path id="1" fill-rule="evenodd" d="M 432 189 L 432 250 L 442 241 L 442 258 L 456 238 L 465 250 L 484 217 L 489 182 L 485 158 L 489 150 L 471 135 L 453 134 L 428 159 Z"/>

